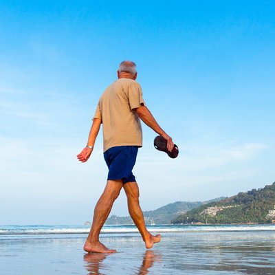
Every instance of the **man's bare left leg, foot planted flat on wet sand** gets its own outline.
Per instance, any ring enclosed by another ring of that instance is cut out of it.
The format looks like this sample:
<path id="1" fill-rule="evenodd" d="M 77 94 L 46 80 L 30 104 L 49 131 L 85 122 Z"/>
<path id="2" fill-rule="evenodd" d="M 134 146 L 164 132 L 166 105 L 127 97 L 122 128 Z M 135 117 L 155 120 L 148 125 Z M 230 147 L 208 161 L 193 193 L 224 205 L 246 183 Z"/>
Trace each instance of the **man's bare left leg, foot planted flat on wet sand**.
<path id="1" fill-rule="evenodd" d="M 122 188 L 122 181 L 107 181 L 106 187 L 96 203 L 96 208 L 94 210 L 94 219 L 91 224 L 91 230 L 87 237 L 87 241 L 84 245 L 84 250 L 86 252 L 94 252 L 94 253 L 112 253 L 116 252 L 115 250 L 109 250 L 105 245 L 100 243 L 99 234 L 104 222 L 107 220 L 109 213 L 111 212 L 111 208 L 113 206 L 113 202 L 120 195 L 120 190 Z"/>

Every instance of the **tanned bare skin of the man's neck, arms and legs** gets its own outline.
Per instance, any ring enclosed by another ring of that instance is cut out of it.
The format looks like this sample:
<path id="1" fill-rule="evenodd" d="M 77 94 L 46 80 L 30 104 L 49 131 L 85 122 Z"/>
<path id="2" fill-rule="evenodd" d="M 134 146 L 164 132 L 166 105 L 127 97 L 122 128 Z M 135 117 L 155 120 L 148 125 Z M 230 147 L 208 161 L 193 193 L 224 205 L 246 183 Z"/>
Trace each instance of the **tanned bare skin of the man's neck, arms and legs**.
<path id="1" fill-rule="evenodd" d="M 131 78 L 135 80 L 137 78 L 137 73 L 135 75 L 126 73 L 126 72 L 118 72 L 118 78 Z M 148 125 L 151 129 L 153 129 L 159 135 L 167 140 L 167 148 L 169 151 L 172 151 L 174 143 L 172 138 L 167 135 L 164 130 L 157 124 L 155 118 L 148 110 L 147 107 L 141 106 L 134 110 L 140 119 Z M 101 120 L 94 119 L 93 124 L 91 125 L 91 130 L 89 133 L 89 138 L 87 145 L 94 146 L 96 142 L 96 137 L 98 135 L 98 131 L 100 129 Z M 77 155 L 78 160 L 80 162 L 87 162 L 89 159 L 93 148 L 83 148 L 83 151 Z M 94 210 L 94 219 L 91 225 L 91 230 L 87 237 L 87 241 L 84 245 L 84 250 L 86 252 L 94 252 L 94 253 L 113 253 L 116 250 L 111 250 L 107 248 L 105 245 L 100 243 L 99 234 L 104 222 L 107 220 L 109 213 L 111 212 L 111 208 L 113 206 L 113 202 L 120 195 L 120 190 L 124 188 L 124 192 L 126 193 L 128 209 L 131 218 L 133 219 L 137 229 L 140 231 L 142 235 L 142 239 L 145 243 L 146 248 L 153 248 L 154 243 L 158 243 L 160 241 L 160 234 L 153 236 L 150 232 L 148 232 L 146 225 L 144 223 L 144 217 L 142 210 L 140 208 L 139 202 L 139 188 L 137 183 L 127 182 L 126 184 L 122 184 L 122 180 L 108 180 L 107 185 L 96 203 L 96 208 Z"/>

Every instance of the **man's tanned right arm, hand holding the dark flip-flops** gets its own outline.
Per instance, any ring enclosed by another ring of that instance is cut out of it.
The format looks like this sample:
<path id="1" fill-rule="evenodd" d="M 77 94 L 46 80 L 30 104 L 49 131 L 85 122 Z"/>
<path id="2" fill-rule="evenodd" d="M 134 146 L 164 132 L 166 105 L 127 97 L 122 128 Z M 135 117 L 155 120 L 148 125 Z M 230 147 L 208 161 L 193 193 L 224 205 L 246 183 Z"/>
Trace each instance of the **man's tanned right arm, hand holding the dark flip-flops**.
<path id="1" fill-rule="evenodd" d="M 134 111 L 147 126 L 149 126 L 151 129 L 153 129 L 153 131 L 165 138 L 165 140 L 167 141 L 168 150 L 172 151 L 174 147 L 172 137 L 167 135 L 165 131 L 159 126 L 159 124 L 157 124 L 157 121 L 153 117 L 151 111 L 149 111 L 146 106 L 140 106 L 134 109 Z"/>

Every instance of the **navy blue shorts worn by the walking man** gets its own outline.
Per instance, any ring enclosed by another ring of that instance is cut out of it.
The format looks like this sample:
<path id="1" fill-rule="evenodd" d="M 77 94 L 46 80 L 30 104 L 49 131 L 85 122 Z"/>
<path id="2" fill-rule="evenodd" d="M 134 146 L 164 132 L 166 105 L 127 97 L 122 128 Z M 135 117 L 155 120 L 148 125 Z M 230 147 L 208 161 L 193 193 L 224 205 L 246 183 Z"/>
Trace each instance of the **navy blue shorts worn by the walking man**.
<path id="1" fill-rule="evenodd" d="M 132 173 L 137 146 L 115 146 L 104 152 L 104 159 L 109 168 L 108 179 L 122 179 L 123 184 L 135 181 Z"/>

